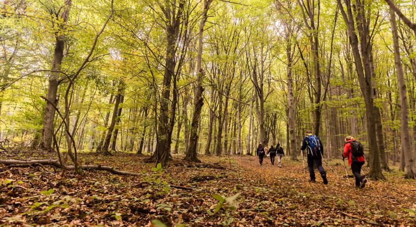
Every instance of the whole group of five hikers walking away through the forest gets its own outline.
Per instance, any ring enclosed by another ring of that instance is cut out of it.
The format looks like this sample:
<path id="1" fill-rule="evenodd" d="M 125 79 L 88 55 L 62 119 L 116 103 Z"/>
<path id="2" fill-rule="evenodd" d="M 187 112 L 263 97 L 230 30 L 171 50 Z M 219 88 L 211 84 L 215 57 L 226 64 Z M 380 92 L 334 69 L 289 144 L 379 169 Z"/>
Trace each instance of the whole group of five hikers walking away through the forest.
<path id="1" fill-rule="evenodd" d="M 344 151 L 342 152 L 342 160 L 345 158 L 348 159 L 348 164 L 351 166 L 352 174 L 355 178 L 355 187 L 364 188 L 367 183 L 367 179 L 361 175 L 361 168 L 365 163 L 364 159 L 364 149 L 363 145 L 356 141 L 352 136 L 347 136 L 344 139 Z M 318 167 L 318 171 L 321 174 L 321 178 L 325 185 L 328 184 L 328 179 L 324 167 L 322 166 L 322 158 L 324 155 L 324 146 L 318 136 L 312 134 L 311 130 L 306 131 L 306 135 L 302 141 L 301 151 L 307 150 L 307 162 L 309 169 L 309 182 L 315 183 L 315 171 L 314 164 Z M 257 155 L 259 156 L 260 165 L 263 165 L 264 156 L 270 156 L 270 161 L 274 165 L 274 158 L 277 155 L 278 157 L 278 166 L 282 167 L 281 158 L 284 156 L 283 148 L 280 147 L 278 143 L 276 147 L 267 146 L 263 147 L 262 144 L 259 144 L 256 150 Z M 302 153 L 302 159 L 304 160 L 304 155 Z M 305 164 L 304 164 L 305 171 Z"/>

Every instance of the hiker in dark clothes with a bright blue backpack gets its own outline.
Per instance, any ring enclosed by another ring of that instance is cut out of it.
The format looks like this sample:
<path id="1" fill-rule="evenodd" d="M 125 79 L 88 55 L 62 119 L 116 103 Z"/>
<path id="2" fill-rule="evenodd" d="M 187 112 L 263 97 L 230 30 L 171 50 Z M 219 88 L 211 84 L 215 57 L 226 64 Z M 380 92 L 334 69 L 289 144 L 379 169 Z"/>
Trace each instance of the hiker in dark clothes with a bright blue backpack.
<path id="1" fill-rule="evenodd" d="M 314 162 L 318 166 L 319 173 L 321 174 L 322 180 L 324 185 L 328 184 L 328 180 L 326 178 L 326 172 L 324 167 L 322 166 L 322 155 L 324 154 L 324 146 L 322 145 L 321 140 L 318 136 L 312 134 L 311 130 L 306 131 L 306 136 L 302 142 L 301 150 L 304 151 L 307 149 L 308 151 L 308 168 L 309 168 L 309 182 L 315 183 L 315 172 L 314 172 Z M 303 155 L 303 153 L 302 153 Z"/>

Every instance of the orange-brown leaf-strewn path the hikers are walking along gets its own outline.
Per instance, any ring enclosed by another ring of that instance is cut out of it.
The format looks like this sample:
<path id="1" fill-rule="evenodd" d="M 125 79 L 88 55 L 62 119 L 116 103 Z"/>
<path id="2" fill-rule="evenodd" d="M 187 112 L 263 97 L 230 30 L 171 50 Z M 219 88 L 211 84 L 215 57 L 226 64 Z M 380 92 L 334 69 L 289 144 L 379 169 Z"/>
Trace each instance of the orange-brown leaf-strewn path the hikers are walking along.
<path id="1" fill-rule="evenodd" d="M 289 208 L 300 210 L 299 214 L 296 213 L 299 218 L 321 215 L 322 220 L 330 218 L 330 222 L 335 223 L 338 218 L 345 216 L 341 212 L 345 212 L 372 222 L 392 223 L 400 217 L 413 218 L 416 215 L 416 184 L 404 179 L 403 174 L 399 172 L 384 173 L 387 181 L 369 180 L 364 189 L 357 189 L 354 187 L 353 178 L 349 178 L 350 185 L 348 180 L 343 178 L 345 168 L 341 160 L 328 162 L 333 171 L 323 162 L 328 185 L 322 183 L 317 170 L 317 182 L 309 183 L 308 169 L 305 169 L 304 177 L 302 160 L 291 161 L 290 157 L 284 157 L 281 168 L 277 166 L 277 158 L 275 165 L 271 164 L 269 157 L 265 157 L 263 165 L 260 166 L 257 156 L 237 158 L 237 162 L 247 170 L 246 178 L 260 179 L 270 190 L 277 190 L 282 194 L 289 193 L 288 201 L 292 202 Z M 307 168 L 306 162 L 305 166 Z M 366 168 L 364 171 L 368 172 Z M 349 166 L 347 173 L 352 174 Z M 278 201 L 280 198 L 275 200 Z M 396 223 L 400 221 L 397 220 Z M 413 224 L 416 225 L 416 220 Z"/>

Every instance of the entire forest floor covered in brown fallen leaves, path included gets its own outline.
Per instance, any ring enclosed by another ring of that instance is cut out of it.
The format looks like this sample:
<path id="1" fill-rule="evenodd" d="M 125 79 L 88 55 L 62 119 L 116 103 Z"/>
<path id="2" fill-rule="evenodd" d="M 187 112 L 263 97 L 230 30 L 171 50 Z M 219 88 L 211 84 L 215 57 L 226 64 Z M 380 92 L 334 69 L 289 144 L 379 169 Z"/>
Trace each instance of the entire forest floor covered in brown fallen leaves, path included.
<path id="1" fill-rule="evenodd" d="M 0 153 L 0 159 L 12 156 L 33 158 L 24 152 Z M 259 166 L 252 156 L 200 156 L 209 165 L 192 165 L 174 155 L 165 171 L 146 163 L 147 158 L 81 155 L 84 164 L 112 165 L 140 177 L 0 165 L 0 225 L 416 226 L 416 183 L 397 171 L 360 190 L 352 178 L 348 185 L 326 164 L 329 184 L 323 185 L 319 175 L 317 183 L 308 183 L 302 161 L 289 157 L 279 168 L 268 159 Z M 329 162 L 344 176 L 341 163 Z"/>

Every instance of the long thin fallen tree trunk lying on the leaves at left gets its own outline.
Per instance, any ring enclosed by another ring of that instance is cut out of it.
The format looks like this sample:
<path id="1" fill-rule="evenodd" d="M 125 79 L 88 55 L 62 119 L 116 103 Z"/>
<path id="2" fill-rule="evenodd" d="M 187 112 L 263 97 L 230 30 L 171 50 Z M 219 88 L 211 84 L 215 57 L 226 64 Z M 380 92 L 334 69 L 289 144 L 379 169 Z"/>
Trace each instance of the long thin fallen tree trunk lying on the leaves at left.
<path id="1" fill-rule="evenodd" d="M 54 159 L 42 159 L 42 160 L 29 160 L 29 161 L 21 161 L 21 160 L 0 160 L 0 164 L 5 164 L 6 166 L 11 167 L 27 167 L 32 165 L 49 165 L 57 168 L 62 168 L 61 163 L 58 160 Z M 18 165 L 18 166 L 17 166 Z M 66 170 L 75 170 L 74 165 L 67 165 L 65 166 Z M 125 171 L 118 171 L 114 169 L 112 166 L 107 165 L 81 165 L 81 169 L 85 171 L 107 171 L 111 174 L 115 175 L 122 175 L 122 176 L 141 176 L 141 174 L 130 173 Z"/>

